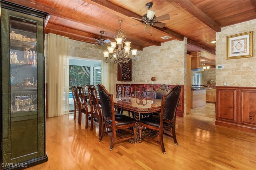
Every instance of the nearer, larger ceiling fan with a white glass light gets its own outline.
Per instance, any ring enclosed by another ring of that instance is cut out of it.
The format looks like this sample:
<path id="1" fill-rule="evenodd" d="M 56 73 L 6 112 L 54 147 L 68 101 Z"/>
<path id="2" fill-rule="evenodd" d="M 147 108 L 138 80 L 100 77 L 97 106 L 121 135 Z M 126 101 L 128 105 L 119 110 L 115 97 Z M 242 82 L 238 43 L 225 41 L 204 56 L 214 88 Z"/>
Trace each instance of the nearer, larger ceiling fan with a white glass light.
<path id="1" fill-rule="evenodd" d="M 150 28 L 150 25 L 156 26 L 159 28 L 163 28 L 165 26 L 165 23 L 162 23 L 160 21 L 170 20 L 169 14 L 164 14 L 164 15 L 158 16 L 158 17 L 155 16 L 155 12 L 150 10 L 150 8 L 153 6 L 153 2 L 148 2 L 148 3 L 146 3 L 145 6 L 148 9 L 148 12 L 147 12 L 147 14 L 144 14 L 142 16 L 142 19 L 131 17 L 133 19 L 140 20 L 142 22 L 140 24 L 146 24 L 144 31 L 148 30 Z M 136 25 L 140 25 L 140 24 L 136 24 Z M 134 26 L 136 26 L 136 25 L 134 25 Z"/>

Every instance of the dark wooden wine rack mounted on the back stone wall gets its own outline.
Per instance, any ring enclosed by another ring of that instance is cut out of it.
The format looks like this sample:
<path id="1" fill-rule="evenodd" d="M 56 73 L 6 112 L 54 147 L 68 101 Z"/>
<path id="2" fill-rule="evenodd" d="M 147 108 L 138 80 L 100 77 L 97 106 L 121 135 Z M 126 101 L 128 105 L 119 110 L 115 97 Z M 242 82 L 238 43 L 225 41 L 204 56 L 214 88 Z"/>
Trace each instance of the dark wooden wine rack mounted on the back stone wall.
<path id="1" fill-rule="evenodd" d="M 132 81 L 132 59 L 127 63 L 117 65 L 117 80 L 118 81 Z"/>

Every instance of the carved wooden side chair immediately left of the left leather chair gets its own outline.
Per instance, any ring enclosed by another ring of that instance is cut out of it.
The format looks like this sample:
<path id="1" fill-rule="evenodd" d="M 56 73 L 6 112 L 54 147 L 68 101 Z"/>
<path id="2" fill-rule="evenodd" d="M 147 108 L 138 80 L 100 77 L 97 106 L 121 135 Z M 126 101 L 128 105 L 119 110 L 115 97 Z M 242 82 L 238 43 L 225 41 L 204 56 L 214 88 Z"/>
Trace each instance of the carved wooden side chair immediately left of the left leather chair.
<path id="1" fill-rule="evenodd" d="M 98 102 L 97 97 L 97 90 L 94 85 L 91 85 L 88 87 L 88 98 L 90 102 L 90 109 L 91 109 L 91 131 L 93 129 L 93 122 L 94 118 L 97 118 L 99 120 L 99 136 L 101 134 L 102 130 L 102 114 L 101 114 L 101 108 Z"/>

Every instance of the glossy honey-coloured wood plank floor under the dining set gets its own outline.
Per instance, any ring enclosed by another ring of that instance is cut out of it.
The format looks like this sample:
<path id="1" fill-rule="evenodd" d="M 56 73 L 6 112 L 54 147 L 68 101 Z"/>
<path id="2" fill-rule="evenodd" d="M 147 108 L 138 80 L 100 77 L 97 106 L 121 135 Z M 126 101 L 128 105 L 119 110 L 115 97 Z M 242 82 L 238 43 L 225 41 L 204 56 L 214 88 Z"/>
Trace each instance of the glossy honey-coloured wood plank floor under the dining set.
<path id="1" fill-rule="evenodd" d="M 110 151 L 111 133 L 99 142 L 98 123 L 90 131 L 74 121 L 74 114 L 47 118 L 48 162 L 29 169 L 255 169 L 256 134 L 214 125 L 214 107 L 207 104 L 177 117 L 179 146 L 164 136 L 166 154 L 160 145 L 144 140 L 116 143 Z"/>

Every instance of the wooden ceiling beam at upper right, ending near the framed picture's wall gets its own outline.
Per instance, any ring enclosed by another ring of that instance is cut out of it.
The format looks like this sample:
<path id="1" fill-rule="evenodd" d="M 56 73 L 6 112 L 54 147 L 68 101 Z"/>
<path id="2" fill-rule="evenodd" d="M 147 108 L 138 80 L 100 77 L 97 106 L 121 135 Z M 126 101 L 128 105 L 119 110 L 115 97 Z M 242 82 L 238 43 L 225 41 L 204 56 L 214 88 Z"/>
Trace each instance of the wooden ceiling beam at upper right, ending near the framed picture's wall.
<path id="1" fill-rule="evenodd" d="M 176 4 L 182 7 L 184 10 L 192 14 L 198 20 L 206 24 L 208 27 L 216 32 L 221 31 L 221 26 L 218 25 L 212 18 L 206 15 L 200 8 L 193 4 L 190 0 L 173 0 Z"/>

